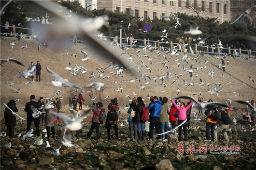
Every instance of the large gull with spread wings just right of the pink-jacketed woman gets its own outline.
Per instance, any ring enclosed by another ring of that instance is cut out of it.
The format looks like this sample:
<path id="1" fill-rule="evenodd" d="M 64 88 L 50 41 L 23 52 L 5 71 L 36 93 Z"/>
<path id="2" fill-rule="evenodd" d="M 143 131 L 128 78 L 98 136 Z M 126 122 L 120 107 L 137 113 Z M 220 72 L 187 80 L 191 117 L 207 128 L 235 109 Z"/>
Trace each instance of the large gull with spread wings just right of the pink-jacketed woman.
<path id="1" fill-rule="evenodd" d="M 197 99 L 195 99 L 194 97 L 191 97 L 191 96 L 176 96 L 176 97 L 173 97 L 173 99 L 180 99 L 180 98 L 183 98 L 183 99 L 189 99 L 191 101 L 193 101 L 196 105 L 194 106 L 195 109 L 199 110 L 199 111 L 205 111 L 207 110 L 207 108 L 205 108 L 207 105 L 218 105 L 218 106 L 222 106 L 222 107 L 228 107 L 228 108 L 233 108 L 233 106 L 231 105 L 226 105 L 224 103 L 221 103 L 221 102 L 206 102 L 206 103 L 201 103 L 199 102 Z"/>

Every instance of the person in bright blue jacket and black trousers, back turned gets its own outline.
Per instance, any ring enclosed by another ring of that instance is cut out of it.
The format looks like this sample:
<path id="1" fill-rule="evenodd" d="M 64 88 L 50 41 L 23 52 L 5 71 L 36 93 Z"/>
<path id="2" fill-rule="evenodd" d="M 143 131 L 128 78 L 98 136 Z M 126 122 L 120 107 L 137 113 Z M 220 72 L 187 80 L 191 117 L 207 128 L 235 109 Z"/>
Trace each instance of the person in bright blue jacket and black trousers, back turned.
<path id="1" fill-rule="evenodd" d="M 152 112 L 150 114 L 150 124 L 149 124 L 149 140 L 152 141 L 154 127 L 156 128 L 156 133 L 161 133 L 159 125 L 160 125 L 160 114 L 162 110 L 161 101 L 158 100 L 158 97 L 153 97 L 154 103 L 147 106 L 147 110 L 152 108 Z M 157 139 L 161 139 L 161 135 L 157 136 Z"/>

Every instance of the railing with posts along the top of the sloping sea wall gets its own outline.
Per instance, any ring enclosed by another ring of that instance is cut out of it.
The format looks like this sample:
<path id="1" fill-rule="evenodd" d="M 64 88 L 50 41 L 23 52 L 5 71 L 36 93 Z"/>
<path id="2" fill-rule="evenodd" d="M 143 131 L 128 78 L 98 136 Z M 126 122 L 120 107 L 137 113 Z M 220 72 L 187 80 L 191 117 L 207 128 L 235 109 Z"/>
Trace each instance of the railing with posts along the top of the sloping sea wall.
<path id="1" fill-rule="evenodd" d="M 8 32 L 4 32 L 4 27 L 5 26 L 0 26 L 0 35 L 1 36 L 11 36 L 11 37 L 18 37 L 21 39 L 34 39 L 36 36 L 34 34 L 33 29 L 30 28 L 24 28 L 24 27 L 15 27 L 15 26 L 9 26 Z M 13 30 L 14 29 L 14 30 Z M 11 30 L 11 31 L 10 31 Z M 14 35 L 15 34 L 15 35 Z M 99 37 L 98 35 L 93 35 L 94 37 Z M 104 44 L 111 45 L 111 46 L 119 46 L 121 48 L 129 48 L 130 45 L 128 44 L 128 39 L 127 38 L 122 38 L 122 43 L 120 42 L 119 37 L 108 37 L 108 36 L 103 36 L 99 37 L 99 39 L 102 40 Z M 116 42 L 114 41 L 116 40 Z M 113 40 L 113 41 L 112 41 Z M 77 43 L 84 43 L 85 40 L 82 37 L 75 36 L 71 38 L 71 41 L 77 42 Z M 185 48 L 183 43 L 173 43 L 173 42 L 162 42 L 162 41 L 154 41 L 154 40 L 149 40 L 149 39 L 133 39 L 133 42 L 136 41 L 136 43 L 132 43 L 132 48 L 144 48 L 145 46 L 151 45 L 150 49 L 151 50 L 161 50 L 161 51 L 171 51 L 173 49 L 176 49 L 178 52 L 185 52 Z M 176 46 L 176 47 L 175 47 Z M 189 46 L 187 46 L 189 47 Z M 202 45 L 191 45 L 190 46 L 192 49 L 192 53 L 197 53 L 198 51 L 201 51 L 202 54 L 210 54 L 210 55 L 225 55 L 230 52 L 233 52 L 232 55 L 234 56 L 249 56 L 249 57 L 254 57 L 256 56 L 256 51 L 252 50 L 242 50 L 240 49 L 231 49 L 231 48 L 222 48 L 222 49 L 217 49 L 217 51 L 212 50 L 211 47 L 208 46 L 202 46 Z M 186 50 L 188 53 L 191 52 L 189 49 Z"/>

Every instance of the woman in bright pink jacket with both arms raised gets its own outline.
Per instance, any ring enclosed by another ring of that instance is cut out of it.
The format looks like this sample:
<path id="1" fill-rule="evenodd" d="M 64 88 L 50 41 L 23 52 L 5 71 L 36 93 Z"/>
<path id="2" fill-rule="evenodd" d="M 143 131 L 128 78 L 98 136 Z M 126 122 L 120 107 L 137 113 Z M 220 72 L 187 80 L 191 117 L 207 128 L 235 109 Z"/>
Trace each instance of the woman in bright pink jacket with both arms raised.
<path id="1" fill-rule="evenodd" d="M 193 102 L 190 102 L 187 106 L 185 106 L 184 102 L 181 102 L 181 106 L 178 106 L 174 101 L 171 100 L 172 105 L 174 105 L 178 111 L 178 125 L 181 124 L 186 119 L 186 110 L 189 109 L 189 107 L 193 104 Z M 184 123 L 182 126 L 179 127 L 179 141 L 181 140 L 181 132 L 182 127 L 184 131 L 184 141 L 187 140 L 187 131 L 186 131 L 186 123 Z"/>

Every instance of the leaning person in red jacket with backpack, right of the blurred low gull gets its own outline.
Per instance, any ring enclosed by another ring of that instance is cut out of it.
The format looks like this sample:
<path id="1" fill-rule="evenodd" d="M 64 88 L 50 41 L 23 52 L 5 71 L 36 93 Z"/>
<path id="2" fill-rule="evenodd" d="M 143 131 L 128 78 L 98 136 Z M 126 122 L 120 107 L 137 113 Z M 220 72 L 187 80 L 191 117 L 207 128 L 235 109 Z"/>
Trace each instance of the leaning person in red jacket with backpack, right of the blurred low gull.
<path id="1" fill-rule="evenodd" d="M 93 116 L 92 116 L 92 125 L 91 128 L 87 134 L 86 139 L 91 138 L 92 131 L 96 128 L 96 135 L 97 135 L 97 140 L 100 139 L 100 124 L 102 121 L 100 121 L 100 111 L 104 109 L 103 104 L 101 102 L 98 102 L 97 104 L 92 107 L 93 111 Z"/>

